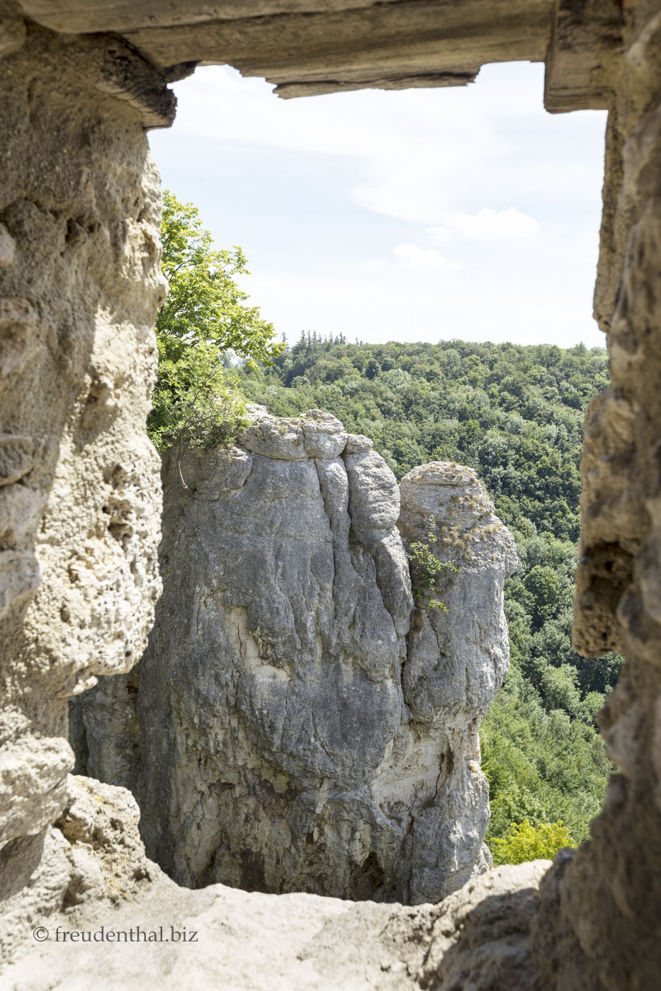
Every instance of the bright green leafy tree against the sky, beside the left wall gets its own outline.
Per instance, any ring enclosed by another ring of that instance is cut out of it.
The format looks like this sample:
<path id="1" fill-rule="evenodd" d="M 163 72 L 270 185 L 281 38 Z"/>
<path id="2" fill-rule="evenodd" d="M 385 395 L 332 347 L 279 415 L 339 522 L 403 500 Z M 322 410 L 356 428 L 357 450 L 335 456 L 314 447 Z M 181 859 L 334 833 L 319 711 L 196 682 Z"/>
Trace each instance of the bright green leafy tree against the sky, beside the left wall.
<path id="1" fill-rule="evenodd" d="M 216 443 L 244 411 L 227 372 L 228 353 L 270 362 L 285 344 L 234 278 L 247 275 L 240 248 L 213 248 L 198 209 L 164 191 L 163 272 L 170 284 L 156 320 L 159 374 L 147 427 L 158 449 L 186 437 Z"/>

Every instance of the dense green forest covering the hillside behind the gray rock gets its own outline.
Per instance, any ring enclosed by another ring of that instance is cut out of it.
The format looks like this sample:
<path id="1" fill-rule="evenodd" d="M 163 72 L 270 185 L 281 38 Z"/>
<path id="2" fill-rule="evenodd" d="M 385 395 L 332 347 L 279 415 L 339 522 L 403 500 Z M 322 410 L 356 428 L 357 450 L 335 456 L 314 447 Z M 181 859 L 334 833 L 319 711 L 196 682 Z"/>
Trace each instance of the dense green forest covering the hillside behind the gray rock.
<path id="1" fill-rule="evenodd" d="M 334 413 L 374 440 L 398 479 L 433 460 L 476 470 L 519 554 L 505 588 L 510 673 L 481 729 L 487 842 L 524 819 L 562 820 L 587 838 L 611 770 L 595 713 L 622 661 L 586 660 L 570 642 L 583 415 L 608 383 L 606 352 L 305 334 L 273 366 L 237 375 L 278 415 Z"/>

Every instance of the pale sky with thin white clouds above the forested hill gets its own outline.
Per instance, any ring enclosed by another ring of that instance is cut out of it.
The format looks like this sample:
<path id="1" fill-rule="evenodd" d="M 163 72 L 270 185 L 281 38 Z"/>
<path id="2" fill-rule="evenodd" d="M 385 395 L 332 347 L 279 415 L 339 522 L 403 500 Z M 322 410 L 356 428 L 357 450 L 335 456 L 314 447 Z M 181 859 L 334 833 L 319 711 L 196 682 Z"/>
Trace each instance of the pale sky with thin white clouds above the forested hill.
<path id="1" fill-rule="evenodd" d="M 547 114 L 543 66 L 467 87 L 280 100 L 227 67 L 178 83 L 164 185 L 290 341 L 604 346 L 592 317 L 605 114 Z"/>

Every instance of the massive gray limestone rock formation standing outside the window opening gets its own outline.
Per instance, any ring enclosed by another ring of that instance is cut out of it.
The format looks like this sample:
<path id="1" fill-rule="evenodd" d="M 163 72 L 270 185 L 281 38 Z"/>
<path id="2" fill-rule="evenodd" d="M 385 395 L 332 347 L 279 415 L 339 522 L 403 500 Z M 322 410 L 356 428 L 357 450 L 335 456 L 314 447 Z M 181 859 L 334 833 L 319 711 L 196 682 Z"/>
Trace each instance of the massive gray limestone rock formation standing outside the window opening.
<path id="1" fill-rule="evenodd" d="M 473 473 L 411 472 L 400 515 L 365 438 L 253 407 L 236 446 L 173 457 L 165 491 L 139 688 L 104 679 L 72 720 L 79 768 L 134 789 L 150 856 L 191 886 L 413 903 L 483 869 L 477 725 L 516 558 Z M 432 518 L 460 568 L 448 612 L 411 595 L 405 541 Z"/>

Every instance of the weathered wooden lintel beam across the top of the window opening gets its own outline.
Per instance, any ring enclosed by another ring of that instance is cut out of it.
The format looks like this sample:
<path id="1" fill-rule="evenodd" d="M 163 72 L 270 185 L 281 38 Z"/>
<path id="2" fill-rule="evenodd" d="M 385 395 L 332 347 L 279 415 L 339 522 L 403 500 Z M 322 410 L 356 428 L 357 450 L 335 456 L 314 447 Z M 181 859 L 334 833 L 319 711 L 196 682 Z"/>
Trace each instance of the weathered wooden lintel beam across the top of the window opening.
<path id="1" fill-rule="evenodd" d="M 553 0 L 22 0 L 56 31 L 119 32 L 156 65 L 229 64 L 279 96 L 463 86 L 489 61 L 542 61 Z"/>

